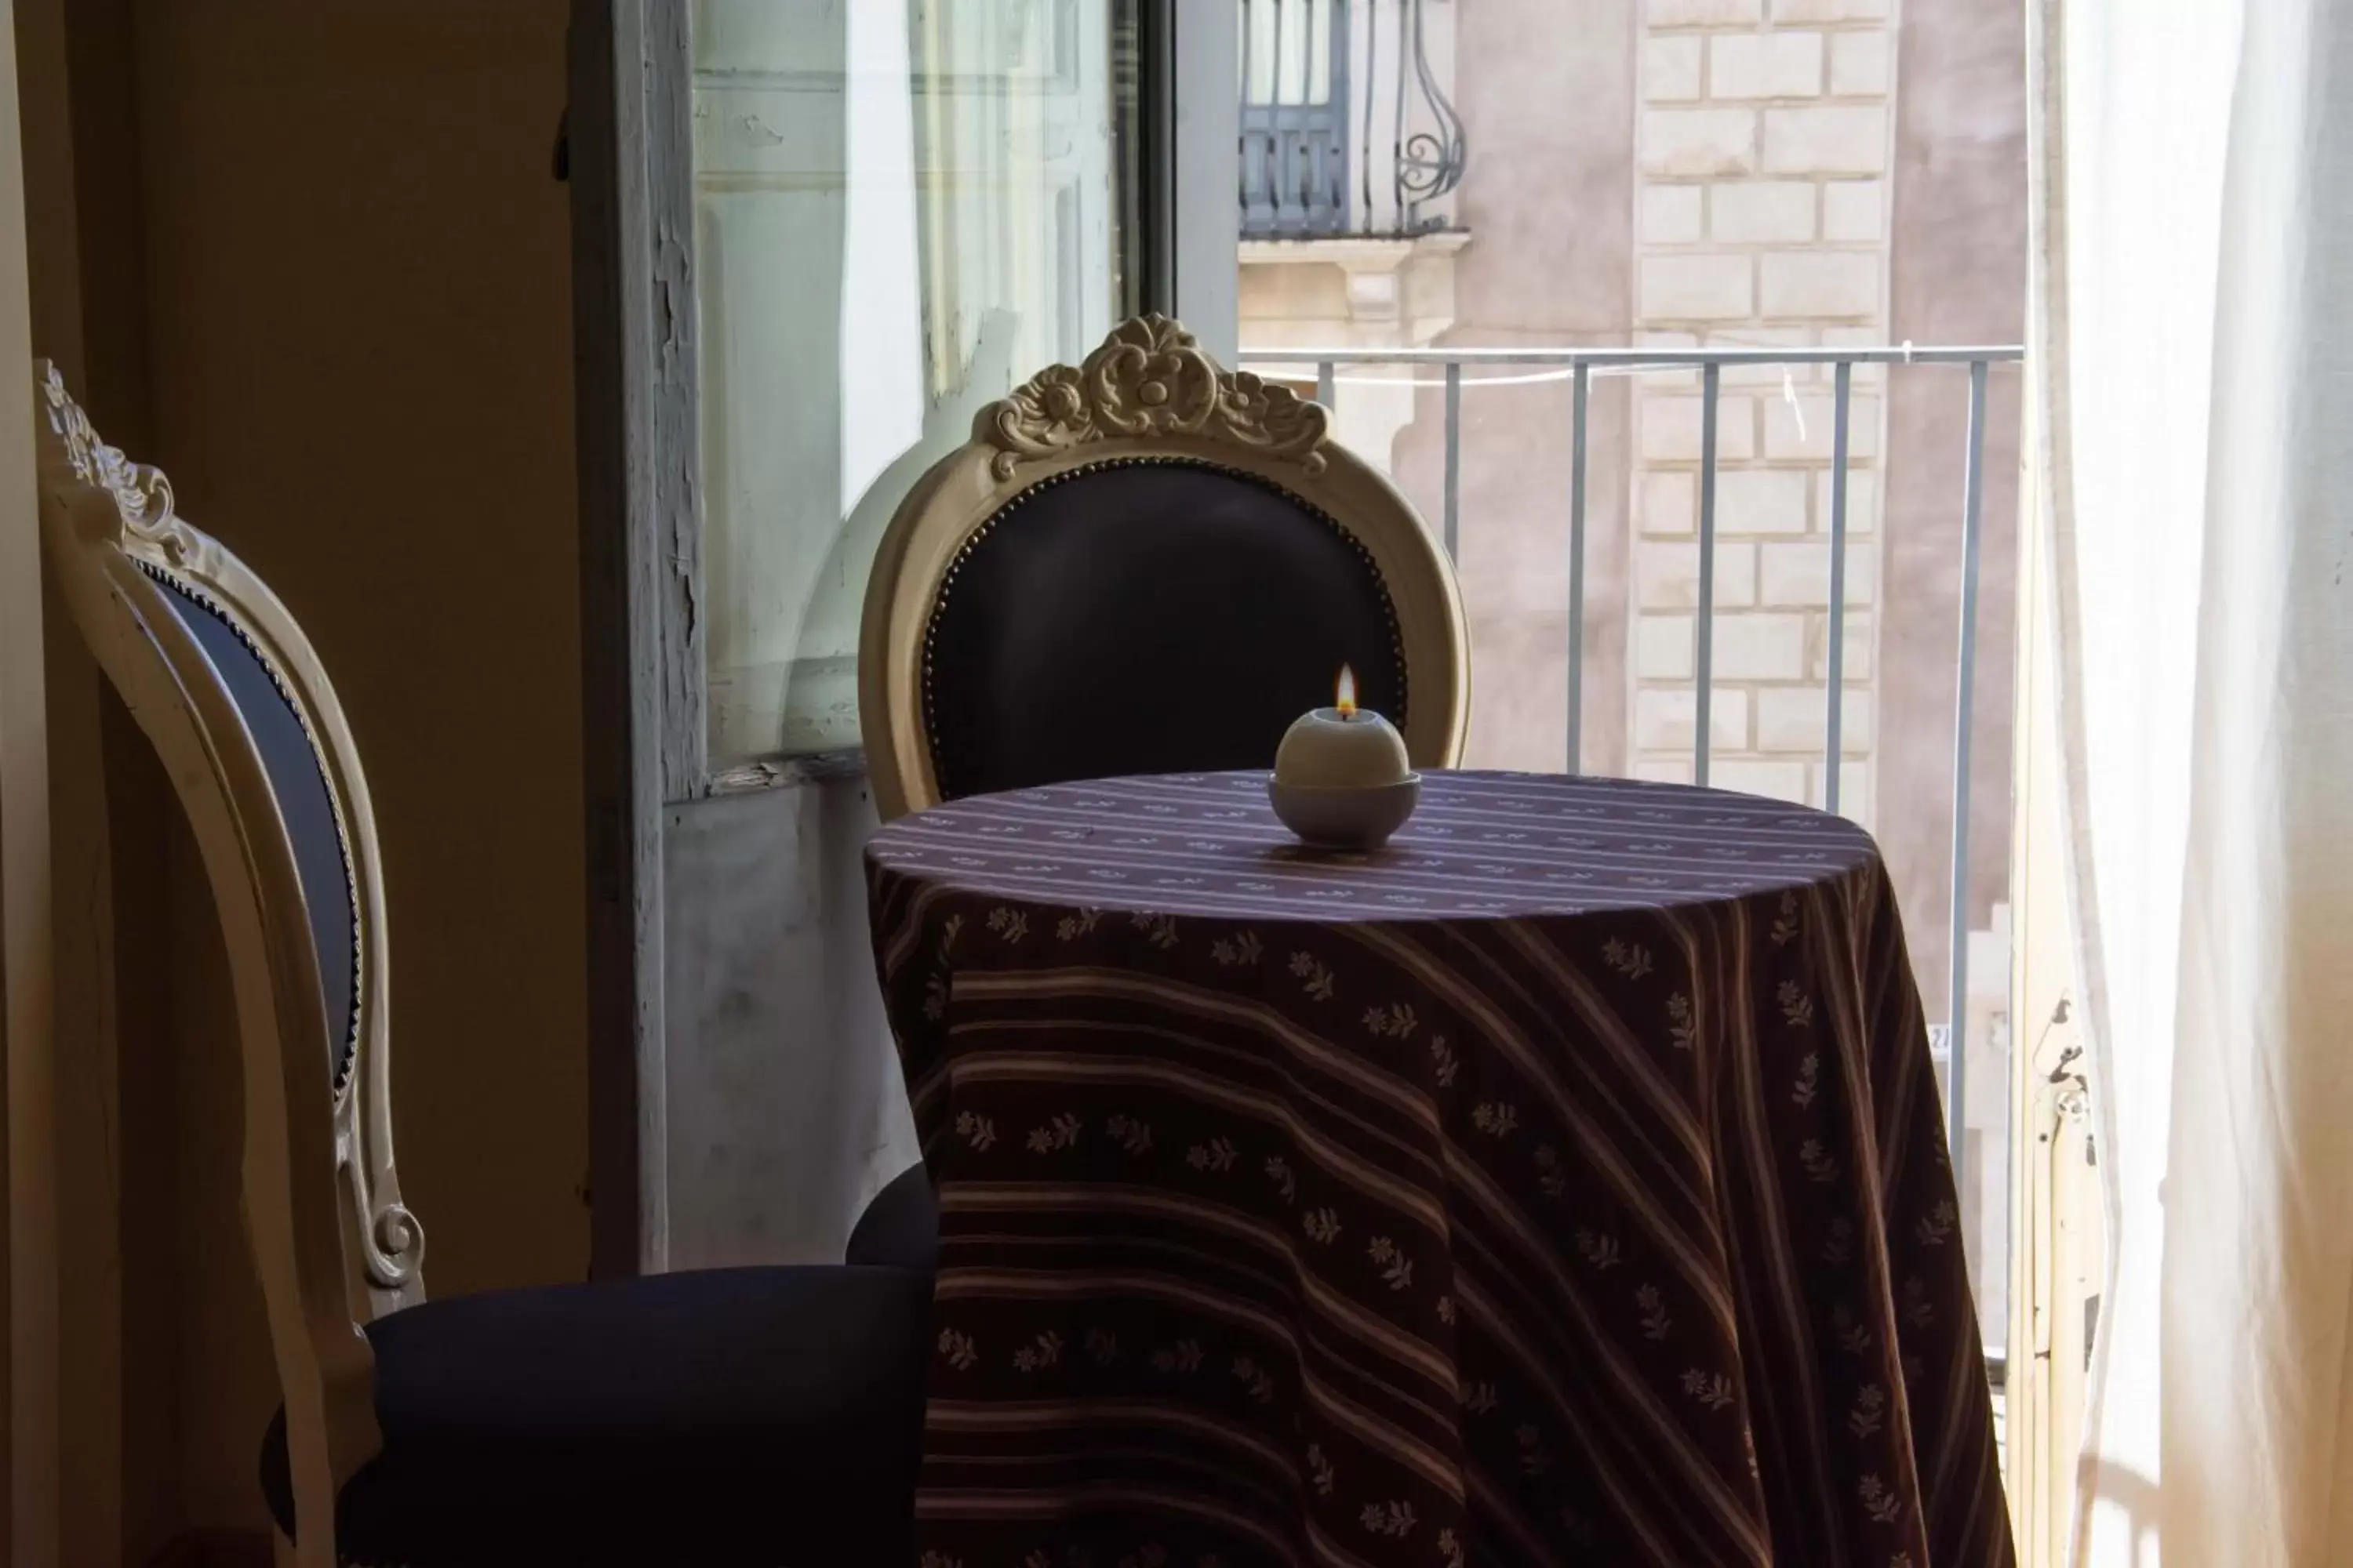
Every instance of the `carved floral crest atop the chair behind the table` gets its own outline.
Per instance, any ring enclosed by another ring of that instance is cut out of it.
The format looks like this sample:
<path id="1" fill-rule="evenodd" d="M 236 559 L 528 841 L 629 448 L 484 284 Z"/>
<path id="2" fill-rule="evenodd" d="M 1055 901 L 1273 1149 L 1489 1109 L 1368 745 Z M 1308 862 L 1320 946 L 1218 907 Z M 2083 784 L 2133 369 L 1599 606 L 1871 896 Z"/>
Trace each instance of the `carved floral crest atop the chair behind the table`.
<path id="1" fill-rule="evenodd" d="M 1219 369 L 1181 322 L 1120 322 L 1085 364 L 1052 364 L 979 411 L 972 437 L 995 447 L 1002 482 L 1021 463 L 1108 440 L 1198 437 L 1325 470 L 1329 414 L 1287 386 Z"/>

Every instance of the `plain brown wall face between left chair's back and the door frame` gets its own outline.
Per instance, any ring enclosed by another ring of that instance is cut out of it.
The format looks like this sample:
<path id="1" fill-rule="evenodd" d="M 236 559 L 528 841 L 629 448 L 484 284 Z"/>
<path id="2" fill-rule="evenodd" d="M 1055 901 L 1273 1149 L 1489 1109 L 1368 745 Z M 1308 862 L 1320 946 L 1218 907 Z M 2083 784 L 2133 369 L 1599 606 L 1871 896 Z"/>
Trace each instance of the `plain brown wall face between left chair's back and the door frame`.
<path id="1" fill-rule="evenodd" d="M 136 16 L 153 454 L 351 712 L 435 1295 L 586 1272 L 565 16 Z"/>

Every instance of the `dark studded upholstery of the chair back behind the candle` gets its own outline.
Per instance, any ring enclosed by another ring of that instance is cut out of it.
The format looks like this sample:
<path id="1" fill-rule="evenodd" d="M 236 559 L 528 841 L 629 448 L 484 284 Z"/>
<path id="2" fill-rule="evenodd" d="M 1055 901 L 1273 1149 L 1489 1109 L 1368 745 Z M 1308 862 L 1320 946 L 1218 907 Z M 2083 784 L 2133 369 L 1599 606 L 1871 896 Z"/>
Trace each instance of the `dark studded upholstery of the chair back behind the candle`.
<path id="1" fill-rule="evenodd" d="M 946 799 L 1111 773 L 1273 766 L 1339 668 L 1400 722 L 1398 611 L 1358 538 L 1254 475 L 1089 463 L 958 555 L 925 637 Z"/>

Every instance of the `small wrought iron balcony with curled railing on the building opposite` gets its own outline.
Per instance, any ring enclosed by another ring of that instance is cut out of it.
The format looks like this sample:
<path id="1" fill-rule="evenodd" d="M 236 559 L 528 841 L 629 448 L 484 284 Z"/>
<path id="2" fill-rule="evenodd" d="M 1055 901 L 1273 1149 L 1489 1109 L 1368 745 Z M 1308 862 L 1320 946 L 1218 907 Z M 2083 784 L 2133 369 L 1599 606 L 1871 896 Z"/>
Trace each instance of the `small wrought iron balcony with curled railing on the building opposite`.
<path id="1" fill-rule="evenodd" d="M 1433 66 L 1428 0 L 1235 0 L 1245 240 L 1452 228 L 1464 122 Z"/>

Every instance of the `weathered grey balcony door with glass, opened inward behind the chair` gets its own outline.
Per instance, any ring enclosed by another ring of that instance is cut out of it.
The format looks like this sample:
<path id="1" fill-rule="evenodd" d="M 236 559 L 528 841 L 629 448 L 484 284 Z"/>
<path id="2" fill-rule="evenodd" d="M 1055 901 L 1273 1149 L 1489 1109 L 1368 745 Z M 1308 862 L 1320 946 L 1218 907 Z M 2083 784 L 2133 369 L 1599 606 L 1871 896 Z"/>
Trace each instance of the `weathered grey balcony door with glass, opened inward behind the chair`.
<path id="1" fill-rule="evenodd" d="M 600 1274 L 838 1258 L 915 1159 L 866 571 L 974 409 L 1122 315 L 1231 348 L 1233 59 L 1172 0 L 576 2 Z"/>

